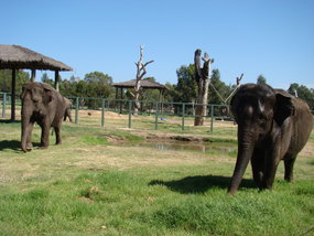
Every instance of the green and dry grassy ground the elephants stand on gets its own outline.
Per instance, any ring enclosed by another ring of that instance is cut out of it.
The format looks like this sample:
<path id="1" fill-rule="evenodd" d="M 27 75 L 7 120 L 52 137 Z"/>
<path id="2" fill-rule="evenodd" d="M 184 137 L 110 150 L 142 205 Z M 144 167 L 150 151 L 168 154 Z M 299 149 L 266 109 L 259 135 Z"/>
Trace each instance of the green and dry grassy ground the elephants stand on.
<path id="1" fill-rule="evenodd" d="M 148 131 L 139 121 L 127 130 L 85 125 L 88 119 L 65 122 L 63 144 L 52 137 L 46 150 L 36 148 L 35 127 L 28 153 L 20 124 L 0 122 L 1 235 L 313 235 L 314 132 L 293 184 L 283 181 L 281 163 L 273 191 L 258 192 L 248 168 L 229 196 L 236 154 L 130 143 L 181 136 L 236 147 L 235 128 Z"/>

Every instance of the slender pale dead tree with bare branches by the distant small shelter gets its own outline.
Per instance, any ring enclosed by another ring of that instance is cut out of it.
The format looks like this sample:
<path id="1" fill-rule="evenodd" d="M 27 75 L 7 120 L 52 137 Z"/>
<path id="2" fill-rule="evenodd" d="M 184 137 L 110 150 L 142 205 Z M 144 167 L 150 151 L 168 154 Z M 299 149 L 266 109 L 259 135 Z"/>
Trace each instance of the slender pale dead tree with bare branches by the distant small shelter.
<path id="1" fill-rule="evenodd" d="M 145 66 L 148 64 L 154 62 L 152 60 L 152 61 L 149 61 L 147 63 L 143 63 L 143 57 L 144 57 L 143 51 L 144 51 L 144 49 L 143 49 L 143 46 L 141 46 L 140 47 L 140 60 L 138 63 L 136 63 L 136 65 L 137 65 L 137 81 L 136 81 L 136 86 L 134 86 L 134 94 L 131 93 L 133 100 L 134 100 L 134 110 L 133 110 L 134 115 L 138 115 L 139 109 L 141 107 L 140 101 L 139 101 L 139 96 L 140 96 L 140 92 L 141 92 L 141 79 L 147 74 Z"/>

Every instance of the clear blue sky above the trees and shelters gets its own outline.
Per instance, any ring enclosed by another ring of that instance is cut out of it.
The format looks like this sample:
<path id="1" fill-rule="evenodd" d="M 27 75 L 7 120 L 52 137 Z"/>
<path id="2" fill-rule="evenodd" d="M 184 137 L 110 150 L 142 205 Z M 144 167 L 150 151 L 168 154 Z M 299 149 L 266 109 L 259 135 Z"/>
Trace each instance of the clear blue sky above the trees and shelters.
<path id="1" fill-rule="evenodd" d="M 1 0 L 0 44 L 62 61 L 84 78 L 99 71 L 132 79 L 140 45 L 148 76 L 176 84 L 176 69 L 202 49 L 221 81 L 314 88 L 313 0 Z M 51 74 L 53 76 L 53 74 Z M 41 74 L 37 73 L 37 81 Z"/>

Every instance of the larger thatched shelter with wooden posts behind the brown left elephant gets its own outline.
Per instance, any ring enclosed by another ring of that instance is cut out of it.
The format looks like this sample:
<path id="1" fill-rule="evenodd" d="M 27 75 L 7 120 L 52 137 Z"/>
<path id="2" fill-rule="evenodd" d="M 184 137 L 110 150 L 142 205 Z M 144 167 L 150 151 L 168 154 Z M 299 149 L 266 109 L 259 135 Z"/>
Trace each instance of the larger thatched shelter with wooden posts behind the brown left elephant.
<path id="1" fill-rule="evenodd" d="M 55 72 L 55 88 L 58 90 L 58 72 L 73 71 L 66 64 L 44 56 L 40 53 L 19 45 L 0 44 L 0 69 L 12 69 L 11 86 L 11 120 L 15 120 L 15 71 L 32 69 L 31 81 L 35 81 L 36 69 L 48 69 Z"/>

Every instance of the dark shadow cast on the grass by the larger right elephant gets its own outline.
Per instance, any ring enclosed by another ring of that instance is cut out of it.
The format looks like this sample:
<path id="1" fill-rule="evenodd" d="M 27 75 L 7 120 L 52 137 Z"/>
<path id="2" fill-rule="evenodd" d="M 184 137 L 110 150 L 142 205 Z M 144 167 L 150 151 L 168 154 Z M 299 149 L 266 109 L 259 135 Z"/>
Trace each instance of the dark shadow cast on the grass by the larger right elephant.
<path id="1" fill-rule="evenodd" d="M 182 194 L 205 193 L 210 189 L 228 189 L 231 178 L 219 175 L 195 175 L 186 176 L 181 180 L 162 181 L 153 180 L 149 185 L 164 185 L 171 191 Z M 256 184 L 252 180 L 242 180 L 241 187 L 253 189 Z"/>

